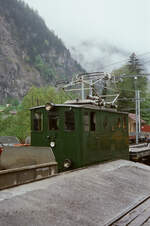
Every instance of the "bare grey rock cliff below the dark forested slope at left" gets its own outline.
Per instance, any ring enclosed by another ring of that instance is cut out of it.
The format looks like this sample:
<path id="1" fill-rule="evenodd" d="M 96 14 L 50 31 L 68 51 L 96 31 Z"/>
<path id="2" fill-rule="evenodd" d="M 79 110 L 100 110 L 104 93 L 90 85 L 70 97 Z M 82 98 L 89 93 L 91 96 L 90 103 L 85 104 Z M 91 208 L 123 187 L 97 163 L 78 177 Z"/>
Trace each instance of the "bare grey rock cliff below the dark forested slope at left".
<path id="1" fill-rule="evenodd" d="M 0 102 L 8 97 L 21 98 L 32 85 L 44 84 L 40 73 L 24 62 L 9 24 L 0 17 Z"/>

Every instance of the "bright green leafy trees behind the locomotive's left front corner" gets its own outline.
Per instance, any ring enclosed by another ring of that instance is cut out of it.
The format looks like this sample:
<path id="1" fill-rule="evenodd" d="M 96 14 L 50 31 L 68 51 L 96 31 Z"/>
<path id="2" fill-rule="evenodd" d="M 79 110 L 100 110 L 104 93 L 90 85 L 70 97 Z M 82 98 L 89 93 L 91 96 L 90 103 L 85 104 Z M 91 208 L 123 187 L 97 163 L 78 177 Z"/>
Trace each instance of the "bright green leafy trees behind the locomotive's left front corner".
<path id="1" fill-rule="evenodd" d="M 23 98 L 21 105 L 18 105 L 16 115 L 7 112 L 0 114 L 0 136 L 17 136 L 22 142 L 30 135 L 30 108 L 37 105 L 45 105 L 47 102 L 64 103 L 68 97 L 61 90 L 53 87 L 36 88 L 32 87 Z M 7 113 L 7 114 L 6 114 Z"/>

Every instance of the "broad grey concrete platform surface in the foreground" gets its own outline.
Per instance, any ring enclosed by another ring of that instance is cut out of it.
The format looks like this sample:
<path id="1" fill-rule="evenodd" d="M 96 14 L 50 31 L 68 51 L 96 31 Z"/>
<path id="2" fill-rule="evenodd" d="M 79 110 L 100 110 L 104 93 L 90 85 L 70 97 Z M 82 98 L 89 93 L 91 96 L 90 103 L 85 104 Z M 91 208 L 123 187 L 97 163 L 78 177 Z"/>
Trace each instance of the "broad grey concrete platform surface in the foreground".
<path id="1" fill-rule="evenodd" d="M 110 225 L 150 195 L 150 167 L 118 160 L 0 192 L 3 226 Z"/>

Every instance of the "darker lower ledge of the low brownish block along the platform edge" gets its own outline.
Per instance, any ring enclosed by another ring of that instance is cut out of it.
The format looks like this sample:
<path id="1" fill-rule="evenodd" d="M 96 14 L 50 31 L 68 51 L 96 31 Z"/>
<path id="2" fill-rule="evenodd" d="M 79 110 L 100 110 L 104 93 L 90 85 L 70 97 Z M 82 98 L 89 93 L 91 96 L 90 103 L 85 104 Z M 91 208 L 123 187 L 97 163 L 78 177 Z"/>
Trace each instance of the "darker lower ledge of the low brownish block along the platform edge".
<path id="1" fill-rule="evenodd" d="M 0 171 L 0 190 L 57 175 L 57 163 L 44 163 Z"/>

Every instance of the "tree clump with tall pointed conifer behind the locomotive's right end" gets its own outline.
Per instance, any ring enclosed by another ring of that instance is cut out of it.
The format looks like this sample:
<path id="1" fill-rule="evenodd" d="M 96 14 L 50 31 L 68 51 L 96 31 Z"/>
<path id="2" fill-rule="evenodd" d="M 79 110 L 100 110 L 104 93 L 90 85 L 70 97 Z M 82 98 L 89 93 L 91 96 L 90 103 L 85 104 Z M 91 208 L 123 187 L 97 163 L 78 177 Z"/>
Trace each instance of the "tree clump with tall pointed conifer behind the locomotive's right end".
<path id="1" fill-rule="evenodd" d="M 142 70 L 140 61 L 132 54 L 127 65 L 113 71 L 117 81 L 114 89 L 120 93 L 118 110 L 135 112 L 135 90 L 140 90 L 141 97 L 146 96 L 147 77 L 136 76 Z"/>

